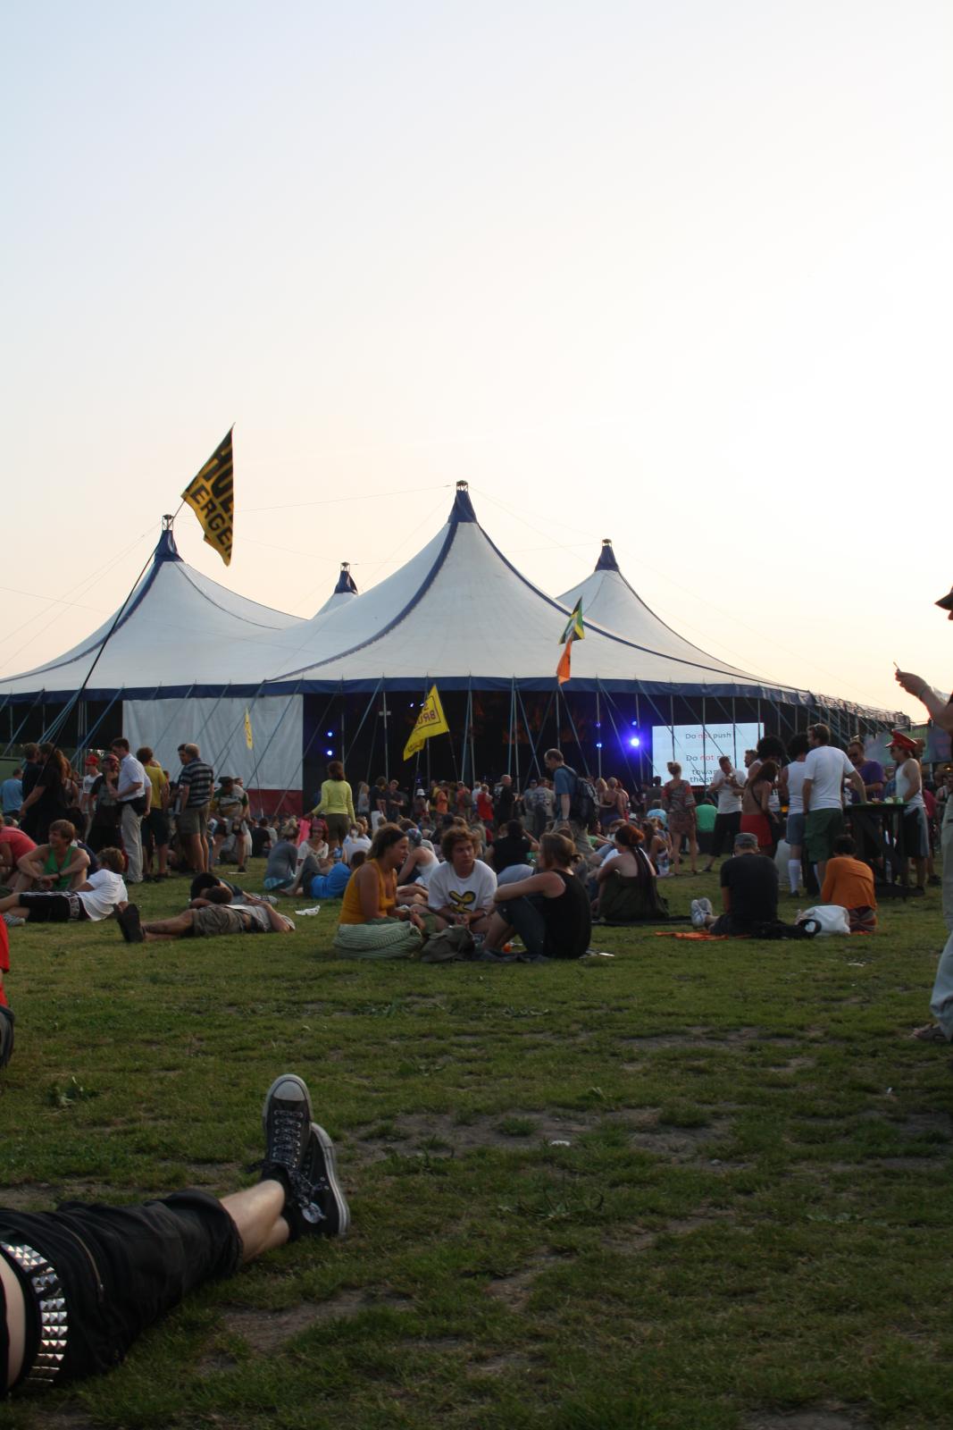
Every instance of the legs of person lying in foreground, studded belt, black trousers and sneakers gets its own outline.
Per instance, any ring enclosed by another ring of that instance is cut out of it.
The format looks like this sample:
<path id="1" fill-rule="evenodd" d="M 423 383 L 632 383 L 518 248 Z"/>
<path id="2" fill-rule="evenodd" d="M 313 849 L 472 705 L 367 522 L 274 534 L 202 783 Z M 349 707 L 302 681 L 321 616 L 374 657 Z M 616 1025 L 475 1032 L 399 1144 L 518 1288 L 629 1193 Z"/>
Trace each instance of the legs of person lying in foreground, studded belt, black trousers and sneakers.
<path id="1" fill-rule="evenodd" d="M 347 1233 L 334 1144 L 313 1120 L 301 1078 L 274 1080 L 263 1124 L 260 1180 L 221 1200 L 191 1190 L 131 1207 L 0 1208 L 0 1379 L 7 1389 L 103 1374 L 199 1286 L 234 1276 L 286 1241 Z"/>

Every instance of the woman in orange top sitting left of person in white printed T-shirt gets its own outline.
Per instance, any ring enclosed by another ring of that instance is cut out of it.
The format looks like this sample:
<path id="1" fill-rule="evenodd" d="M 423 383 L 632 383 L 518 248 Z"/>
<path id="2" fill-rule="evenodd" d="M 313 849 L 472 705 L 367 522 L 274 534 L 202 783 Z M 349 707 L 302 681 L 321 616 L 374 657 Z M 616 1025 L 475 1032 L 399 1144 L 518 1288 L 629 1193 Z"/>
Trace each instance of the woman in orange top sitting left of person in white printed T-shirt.
<path id="1" fill-rule="evenodd" d="M 396 824 L 380 824 L 370 852 L 344 889 L 334 948 L 343 958 L 409 958 L 420 951 L 424 921 L 397 904 L 397 869 L 410 844 Z"/>

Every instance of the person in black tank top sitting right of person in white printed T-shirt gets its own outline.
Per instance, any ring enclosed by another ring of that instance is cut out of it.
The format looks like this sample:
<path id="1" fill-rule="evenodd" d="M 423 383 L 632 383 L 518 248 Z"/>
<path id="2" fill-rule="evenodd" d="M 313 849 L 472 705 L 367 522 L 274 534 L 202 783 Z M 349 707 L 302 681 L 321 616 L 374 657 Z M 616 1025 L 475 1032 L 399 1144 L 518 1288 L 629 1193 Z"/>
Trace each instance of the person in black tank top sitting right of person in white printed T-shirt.
<path id="1" fill-rule="evenodd" d="M 544 834 L 539 842 L 536 874 L 500 884 L 489 921 L 482 958 L 504 958 L 503 945 L 513 934 L 523 940 L 530 960 L 582 958 L 589 948 L 592 911 L 586 885 L 576 874 L 576 847 L 563 834 Z"/>

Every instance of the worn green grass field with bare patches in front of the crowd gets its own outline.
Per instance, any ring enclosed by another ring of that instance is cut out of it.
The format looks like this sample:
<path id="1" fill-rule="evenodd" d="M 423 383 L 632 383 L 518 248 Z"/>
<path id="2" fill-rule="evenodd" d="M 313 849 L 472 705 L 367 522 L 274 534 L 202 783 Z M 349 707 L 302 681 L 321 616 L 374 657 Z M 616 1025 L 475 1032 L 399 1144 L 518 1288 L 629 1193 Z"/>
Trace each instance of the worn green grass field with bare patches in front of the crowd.
<path id="1" fill-rule="evenodd" d="M 666 888 L 673 912 L 700 892 L 717 878 Z M 291 938 L 13 931 L 7 1204 L 234 1190 L 293 1070 L 353 1230 L 203 1288 L 0 1427 L 953 1424 L 953 1078 L 906 1037 L 937 889 L 873 938 L 609 930 L 614 960 L 567 965 L 340 962 L 333 908 Z"/>

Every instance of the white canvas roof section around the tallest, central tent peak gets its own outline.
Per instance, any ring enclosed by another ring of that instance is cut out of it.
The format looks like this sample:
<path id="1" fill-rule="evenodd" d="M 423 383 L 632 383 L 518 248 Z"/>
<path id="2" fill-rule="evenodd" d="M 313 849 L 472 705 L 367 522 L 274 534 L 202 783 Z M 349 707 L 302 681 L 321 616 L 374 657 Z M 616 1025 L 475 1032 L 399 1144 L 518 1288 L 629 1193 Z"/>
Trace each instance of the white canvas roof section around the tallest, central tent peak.
<path id="1" fill-rule="evenodd" d="M 746 695 L 806 704 L 806 691 L 736 671 L 680 641 L 662 622 L 642 639 L 603 629 L 583 609 L 586 639 L 573 648 L 574 689 L 626 688 L 670 694 Z M 380 585 L 323 622 L 279 633 L 271 649 L 290 659 L 264 686 L 494 689 L 517 681 L 550 688 L 564 603 L 533 586 L 480 526 L 466 483 L 446 526 Z"/>

